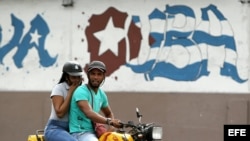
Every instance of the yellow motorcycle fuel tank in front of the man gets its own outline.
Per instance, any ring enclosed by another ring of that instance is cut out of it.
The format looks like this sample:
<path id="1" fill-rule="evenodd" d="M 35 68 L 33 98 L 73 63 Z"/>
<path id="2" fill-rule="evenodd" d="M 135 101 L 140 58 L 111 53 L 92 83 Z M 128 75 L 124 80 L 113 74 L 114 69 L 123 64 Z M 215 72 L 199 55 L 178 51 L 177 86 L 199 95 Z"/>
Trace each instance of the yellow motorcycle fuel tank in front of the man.
<path id="1" fill-rule="evenodd" d="M 117 132 L 106 132 L 100 138 L 99 141 L 134 141 L 130 134 L 121 134 Z"/>

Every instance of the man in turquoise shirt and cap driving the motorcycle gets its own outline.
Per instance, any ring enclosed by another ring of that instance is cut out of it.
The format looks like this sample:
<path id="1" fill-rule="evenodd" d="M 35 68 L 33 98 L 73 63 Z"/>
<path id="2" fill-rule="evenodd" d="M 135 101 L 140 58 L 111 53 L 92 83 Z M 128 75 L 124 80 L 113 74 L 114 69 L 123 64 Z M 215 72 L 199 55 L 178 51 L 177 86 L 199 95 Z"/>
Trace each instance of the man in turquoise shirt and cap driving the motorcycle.
<path id="1" fill-rule="evenodd" d="M 79 86 L 71 100 L 70 133 L 79 141 L 98 141 L 93 123 L 120 126 L 114 119 L 106 93 L 100 88 L 104 83 L 106 66 L 101 61 L 92 61 L 87 69 L 88 84 Z M 100 111 L 103 113 L 102 116 Z M 109 126 L 111 127 L 111 126 Z"/>

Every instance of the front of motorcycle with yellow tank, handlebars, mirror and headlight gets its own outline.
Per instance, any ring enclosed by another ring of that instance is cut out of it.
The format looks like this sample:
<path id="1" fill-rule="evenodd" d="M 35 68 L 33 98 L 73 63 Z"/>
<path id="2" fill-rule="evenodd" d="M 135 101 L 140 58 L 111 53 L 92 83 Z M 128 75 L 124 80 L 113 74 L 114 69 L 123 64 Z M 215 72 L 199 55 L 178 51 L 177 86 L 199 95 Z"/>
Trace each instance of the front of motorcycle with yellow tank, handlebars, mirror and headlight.
<path id="1" fill-rule="evenodd" d="M 104 133 L 99 141 L 155 141 L 162 140 L 163 128 L 155 123 L 142 123 L 142 115 L 136 108 L 138 124 L 133 121 L 121 122 L 121 128 L 114 132 Z"/>

